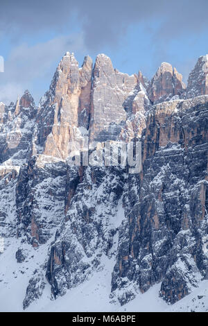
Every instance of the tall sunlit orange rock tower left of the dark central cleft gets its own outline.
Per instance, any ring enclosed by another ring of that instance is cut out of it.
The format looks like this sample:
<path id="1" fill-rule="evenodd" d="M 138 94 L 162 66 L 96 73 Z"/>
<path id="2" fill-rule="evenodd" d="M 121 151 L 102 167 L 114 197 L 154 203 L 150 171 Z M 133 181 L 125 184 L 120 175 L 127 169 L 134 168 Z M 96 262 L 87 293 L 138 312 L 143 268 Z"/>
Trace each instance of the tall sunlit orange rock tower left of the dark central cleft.
<path id="1" fill-rule="evenodd" d="M 79 69 L 73 53 L 67 52 L 40 101 L 34 153 L 68 157 L 69 141 L 81 136 L 79 127 L 88 128 L 91 83 L 91 58 Z"/>

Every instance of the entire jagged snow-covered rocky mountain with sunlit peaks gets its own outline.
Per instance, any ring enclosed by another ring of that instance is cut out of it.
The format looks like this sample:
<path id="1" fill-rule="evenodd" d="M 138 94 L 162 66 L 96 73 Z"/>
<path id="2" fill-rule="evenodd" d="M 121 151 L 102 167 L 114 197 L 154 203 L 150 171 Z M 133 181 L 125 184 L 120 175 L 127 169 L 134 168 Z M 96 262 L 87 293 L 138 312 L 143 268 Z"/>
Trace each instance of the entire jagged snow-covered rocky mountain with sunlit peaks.
<path id="1" fill-rule="evenodd" d="M 104 311 L 208 309 L 207 126 L 207 55 L 186 87 L 166 62 L 149 81 L 67 52 L 37 107 L 0 103 L 0 309 L 94 310 L 85 286 Z M 138 141 L 140 170 L 99 162 Z"/>

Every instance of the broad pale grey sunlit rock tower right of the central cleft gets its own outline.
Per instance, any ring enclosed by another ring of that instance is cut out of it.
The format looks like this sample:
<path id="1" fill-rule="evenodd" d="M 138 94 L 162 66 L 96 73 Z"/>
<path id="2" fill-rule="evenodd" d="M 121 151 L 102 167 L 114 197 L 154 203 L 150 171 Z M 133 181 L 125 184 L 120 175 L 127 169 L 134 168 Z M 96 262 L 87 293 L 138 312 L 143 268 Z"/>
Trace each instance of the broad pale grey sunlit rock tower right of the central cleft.
<path id="1" fill-rule="evenodd" d="M 137 76 L 115 70 L 104 54 L 97 56 L 93 74 L 90 141 L 116 140 L 127 118 L 125 101 L 137 87 Z"/>

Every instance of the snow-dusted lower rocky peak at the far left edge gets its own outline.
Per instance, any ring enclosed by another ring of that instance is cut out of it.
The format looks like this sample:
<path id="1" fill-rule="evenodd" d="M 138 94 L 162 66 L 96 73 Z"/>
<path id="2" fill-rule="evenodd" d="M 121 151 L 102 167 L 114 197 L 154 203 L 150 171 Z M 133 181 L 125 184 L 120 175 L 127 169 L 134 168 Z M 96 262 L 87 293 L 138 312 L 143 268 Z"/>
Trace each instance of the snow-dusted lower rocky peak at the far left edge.
<path id="1" fill-rule="evenodd" d="M 0 162 L 21 165 L 31 155 L 37 108 L 28 90 L 17 103 L 0 105 Z"/>

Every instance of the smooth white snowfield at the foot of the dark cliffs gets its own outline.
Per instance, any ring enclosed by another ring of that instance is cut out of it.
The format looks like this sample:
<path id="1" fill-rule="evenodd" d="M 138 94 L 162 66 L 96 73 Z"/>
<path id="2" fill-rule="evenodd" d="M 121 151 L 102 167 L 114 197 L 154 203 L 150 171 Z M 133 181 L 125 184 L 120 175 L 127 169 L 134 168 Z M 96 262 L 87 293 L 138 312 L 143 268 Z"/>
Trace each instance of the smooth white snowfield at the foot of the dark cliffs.
<path id="1" fill-rule="evenodd" d="M 37 249 L 25 245 L 28 257 L 23 263 L 17 263 L 15 252 L 20 246 L 19 239 L 6 239 L 6 250 L 0 255 L 0 311 L 24 311 L 22 302 L 26 294 L 28 280 L 37 268 L 44 264 L 49 243 Z M 22 248 L 22 244 L 21 244 Z M 208 281 L 200 282 L 190 295 L 173 305 L 168 305 L 159 298 L 161 284 L 155 284 L 146 293 L 139 293 L 137 297 L 121 305 L 110 299 L 111 273 L 114 266 L 114 257 L 108 259 L 103 256 L 100 271 L 83 284 L 67 292 L 66 295 L 51 298 L 49 283 L 45 280 L 42 297 L 33 302 L 27 312 L 80 312 L 80 311 L 112 311 L 112 312 L 150 312 L 150 311 L 208 311 Z"/>

